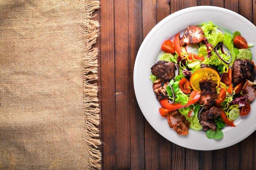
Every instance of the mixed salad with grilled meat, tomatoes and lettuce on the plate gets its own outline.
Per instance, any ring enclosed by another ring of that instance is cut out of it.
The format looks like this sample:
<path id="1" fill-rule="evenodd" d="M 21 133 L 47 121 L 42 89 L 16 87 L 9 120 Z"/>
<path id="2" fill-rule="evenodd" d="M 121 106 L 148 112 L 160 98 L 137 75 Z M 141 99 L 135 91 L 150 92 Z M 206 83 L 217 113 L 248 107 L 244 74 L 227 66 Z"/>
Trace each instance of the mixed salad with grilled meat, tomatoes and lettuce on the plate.
<path id="1" fill-rule="evenodd" d="M 256 97 L 252 46 L 238 31 L 224 33 L 212 22 L 164 41 L 150 78 L 170 128 L 184 136 L 189 128 L 203 129 L 209 139 L 221 139 L 226 124 L 236 126 L 249 114 Z"/>

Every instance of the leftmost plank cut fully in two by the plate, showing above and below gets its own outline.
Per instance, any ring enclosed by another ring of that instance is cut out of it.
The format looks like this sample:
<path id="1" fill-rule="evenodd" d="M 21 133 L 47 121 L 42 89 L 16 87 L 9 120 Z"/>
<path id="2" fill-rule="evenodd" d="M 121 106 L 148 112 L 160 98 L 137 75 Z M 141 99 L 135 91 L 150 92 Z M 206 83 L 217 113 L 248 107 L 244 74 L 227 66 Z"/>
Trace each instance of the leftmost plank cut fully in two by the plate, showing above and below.
<path id="1" fill-rule="evenodd" d="M 156 0 L 142 0 L 142 31 L 143 39 L 156 24 Z M 152 126 L 144 121 L 145 127 L 145 168 L 147 170 L 159 169 L 158 133 Z"/>

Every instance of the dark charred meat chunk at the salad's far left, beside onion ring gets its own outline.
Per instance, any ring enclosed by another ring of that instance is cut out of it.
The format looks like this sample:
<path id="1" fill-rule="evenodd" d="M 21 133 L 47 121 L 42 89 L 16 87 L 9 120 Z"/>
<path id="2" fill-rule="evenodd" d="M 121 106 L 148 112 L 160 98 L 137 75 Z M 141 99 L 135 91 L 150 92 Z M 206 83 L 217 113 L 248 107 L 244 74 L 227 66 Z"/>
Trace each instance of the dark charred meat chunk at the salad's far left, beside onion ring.
<path id="1" fill-rule="evenodd" d="M 164 80 L 171 80 L 175 76 L 175 69 L 176 67 L 173 62 L 157 61 L 151 67 L 151 73 Z"/>

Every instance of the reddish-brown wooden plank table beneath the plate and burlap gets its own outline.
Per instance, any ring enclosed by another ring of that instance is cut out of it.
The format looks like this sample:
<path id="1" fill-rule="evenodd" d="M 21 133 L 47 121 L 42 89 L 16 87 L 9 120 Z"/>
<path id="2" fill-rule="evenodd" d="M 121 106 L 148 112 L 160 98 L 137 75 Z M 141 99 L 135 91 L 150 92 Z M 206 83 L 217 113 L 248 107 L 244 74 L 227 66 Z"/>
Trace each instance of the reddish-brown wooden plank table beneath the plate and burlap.
<path id="1" fill-rule="evenodd" d="M 191 150 L 159 135 L 137 104 L 132 75 L 143 39 L 164 17 L 200 5 L 225 7 L 256 24 L 255 0 L 101 0 L 95 19 L 101 24 L 96 46 L 103 169 L 256 169 L 255 132 L 229 148 Z"/>

